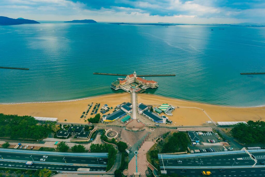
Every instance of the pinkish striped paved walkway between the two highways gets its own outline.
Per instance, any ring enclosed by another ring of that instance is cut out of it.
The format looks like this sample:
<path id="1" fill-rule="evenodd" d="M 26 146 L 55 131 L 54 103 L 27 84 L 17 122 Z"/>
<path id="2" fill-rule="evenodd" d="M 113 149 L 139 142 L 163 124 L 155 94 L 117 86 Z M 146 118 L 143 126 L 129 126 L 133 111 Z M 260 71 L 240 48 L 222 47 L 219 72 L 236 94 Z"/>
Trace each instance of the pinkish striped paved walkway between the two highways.
<path id="1" fill-rule="evenodd" d="M 142 147 L 138 151 L 137 155 L 137 172 L 141 173 L 141 176 L 146 176 L 145 171 L 148 169 L 148 161 L 146 159 L 147 151 L 154 145 L 153 141 L 145 141 Z M 128 165 L 128 176 L 133 175 L 136 172 L 136 157 L 134 156 L 133 159 L 129 162 Z"/>

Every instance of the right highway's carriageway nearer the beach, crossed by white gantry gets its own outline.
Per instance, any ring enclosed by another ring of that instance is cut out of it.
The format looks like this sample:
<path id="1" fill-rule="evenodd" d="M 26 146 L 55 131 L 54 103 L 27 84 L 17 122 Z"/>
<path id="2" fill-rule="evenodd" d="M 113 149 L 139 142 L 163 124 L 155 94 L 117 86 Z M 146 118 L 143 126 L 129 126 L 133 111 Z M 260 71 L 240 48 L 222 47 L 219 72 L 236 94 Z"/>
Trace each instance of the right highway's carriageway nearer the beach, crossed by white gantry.
<path id="1" fill-rule="evenodd" d="M 246 153 L 219 156 L 210 155 L 211 153 L 207 157 L 163 159 L 163 162 L 165 167 L 252 166 L 255 163 Z M 258 161 L 256 165 L 260 165 L 260 162 L 265 162 L 265 153 L 253 153 L 253 155 Z M 159 160 L 161 167 L 163 167 L 163 162 L 161 159 Z"/>

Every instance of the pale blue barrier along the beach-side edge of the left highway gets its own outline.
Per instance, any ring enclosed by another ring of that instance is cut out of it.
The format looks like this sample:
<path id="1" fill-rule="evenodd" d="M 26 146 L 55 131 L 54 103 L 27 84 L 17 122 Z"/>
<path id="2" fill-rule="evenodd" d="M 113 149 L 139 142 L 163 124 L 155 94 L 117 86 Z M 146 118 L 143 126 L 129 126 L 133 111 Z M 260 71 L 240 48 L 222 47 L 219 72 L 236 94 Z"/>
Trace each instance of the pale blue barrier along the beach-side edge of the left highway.
<path id="1" fill-rule="evenodd" d="M 18 149 L 3 149 L 0 152 L 22 153 L 22 154 L 42 154 L 53 156 L 68 156 L 68 157 L 95 157 L 108 158 L 108 153 L 63 153 L 63 152 L 49 152 L 49 151 L 35 151 L 35 150 L 18 150 Z"/>

